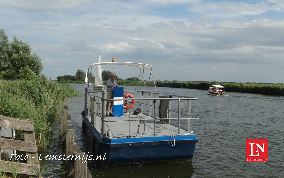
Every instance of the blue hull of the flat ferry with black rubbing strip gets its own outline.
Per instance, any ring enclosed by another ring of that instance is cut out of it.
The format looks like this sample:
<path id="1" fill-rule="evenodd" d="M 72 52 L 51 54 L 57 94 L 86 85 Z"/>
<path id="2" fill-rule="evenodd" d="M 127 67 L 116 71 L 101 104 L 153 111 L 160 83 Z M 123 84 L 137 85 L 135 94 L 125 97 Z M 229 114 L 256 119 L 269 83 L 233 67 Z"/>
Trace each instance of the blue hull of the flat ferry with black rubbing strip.
<path id="1" fill-rule="evenodd" d="M 83 132 L 93 145 L 93 158 L 102 164 L 140 163 L 193 158 L 195 134 L 140 138 L 102 138 L 83 116 Z"/>

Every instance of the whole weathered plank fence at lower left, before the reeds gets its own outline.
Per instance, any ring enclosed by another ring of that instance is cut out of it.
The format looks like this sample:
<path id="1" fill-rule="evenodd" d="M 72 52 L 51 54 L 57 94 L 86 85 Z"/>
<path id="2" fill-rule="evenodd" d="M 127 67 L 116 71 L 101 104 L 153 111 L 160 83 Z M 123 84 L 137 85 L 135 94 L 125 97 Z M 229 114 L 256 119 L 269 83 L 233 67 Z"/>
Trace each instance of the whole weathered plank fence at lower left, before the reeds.
<path id="1" fill-rule="evenodd" d="M 24 139 L 1 138 L 1 128 L 23 130 Z M 17 155 L 21 157 L 13 155 L 14 161 L 10 160 L 11 155 L 10 158 L 3 160 L 0 157 L 0 171 L 17 172 L 18 174 L 30 176 L 36 176 L 40 172 L 33 120 L 0 116 L 0 150 L 2 150 L 2 155 L 5 150 L 23 152 L 22 155 Z M 26 163 L 19 163 L 16 161 L 17 158 L 21 161 L 25 160 Z"/>

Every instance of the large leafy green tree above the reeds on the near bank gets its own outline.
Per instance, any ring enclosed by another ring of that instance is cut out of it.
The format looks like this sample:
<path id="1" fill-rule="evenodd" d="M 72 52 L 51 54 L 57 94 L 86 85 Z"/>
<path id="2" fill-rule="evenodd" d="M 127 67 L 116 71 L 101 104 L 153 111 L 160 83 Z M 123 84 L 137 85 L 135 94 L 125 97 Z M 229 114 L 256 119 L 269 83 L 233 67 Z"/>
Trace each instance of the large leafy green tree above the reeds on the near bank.
<path id="1" fill-rule="evenodd" d="M 14 36 L 9 43 L 4 29 L 0 30 L 0 72 L 5 71 L 4 79 L 31 79 L 43 70 L 41 58 L 36 53 L 31 54 L 27 42 Z"/>

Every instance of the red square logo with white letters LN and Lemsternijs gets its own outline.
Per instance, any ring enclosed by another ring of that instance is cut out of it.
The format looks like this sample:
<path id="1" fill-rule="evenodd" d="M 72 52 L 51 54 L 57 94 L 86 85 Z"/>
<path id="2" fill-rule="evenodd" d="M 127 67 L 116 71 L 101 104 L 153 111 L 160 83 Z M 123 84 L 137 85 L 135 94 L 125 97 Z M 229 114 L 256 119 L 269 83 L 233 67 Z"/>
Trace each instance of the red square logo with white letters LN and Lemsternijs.
<path id="1" fill-rule="evenodd" d="M 247 139 L 247 162 L 268 162 L 268 139 Z"/>

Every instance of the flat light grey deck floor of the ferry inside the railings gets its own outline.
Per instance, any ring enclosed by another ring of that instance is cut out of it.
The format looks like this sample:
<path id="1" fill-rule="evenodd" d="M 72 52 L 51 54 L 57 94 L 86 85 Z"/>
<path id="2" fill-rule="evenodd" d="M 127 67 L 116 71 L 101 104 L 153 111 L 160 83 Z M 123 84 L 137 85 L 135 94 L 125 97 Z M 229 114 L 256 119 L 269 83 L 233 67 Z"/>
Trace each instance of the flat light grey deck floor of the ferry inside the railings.
<path id="1" fill-rule="evenodd" d="M 123 117 L 106 117 L 107 121 L 115 121 L 115 122 L 106 122 L 108 126 L 108 130 L 111 131 L 113 137 L 128 137 L 129 136 L 129 121 L 128 121 L 129 113 L 124 113 Z M 142 121 L 140 124 L 139 132 L 137 134 L 138 125 L 140 119 L 153 119 L 144 114 L 135 115 L 134 113 L 130 113 L 130 136 L 135 137 L 153 137 L 154 136 L 154 120 L 144 120 L 145 122 L 145 132 L 144 132 L 144 122 Z M 90 120 L 90 117 L 89 117 Z M 119 121 L 119 120 L 127 120 L 127 121 Z M 100 131 L 100 117 L 97 116 L 96 121 L 96 129 Z M 143 133 L 144 132 L 144 133 Z M 142 134 L 142 135 L 139 135 Z M 178 135 L 178 128 L 165 123 L 160 120 L 155 121 L 155 136 L 171 136 Z M 185 135 L 188 134 L 187 131 L 180 129 L 180 134 Z"/>

